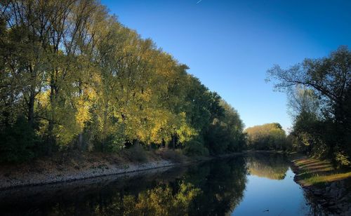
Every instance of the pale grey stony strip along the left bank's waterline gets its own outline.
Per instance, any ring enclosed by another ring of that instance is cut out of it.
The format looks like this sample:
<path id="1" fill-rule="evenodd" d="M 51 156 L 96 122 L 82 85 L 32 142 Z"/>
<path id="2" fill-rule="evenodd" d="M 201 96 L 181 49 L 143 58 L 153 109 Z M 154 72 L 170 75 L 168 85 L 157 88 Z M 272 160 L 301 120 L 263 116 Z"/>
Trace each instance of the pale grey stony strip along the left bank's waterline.
<path id="1" fill-rule="evenodd" d="M 44 163 L 49 164 L 44 164 Z M 145 163 L 110 163 L 108 161 L 84 161 L 81 166 L 77 161 L 74 166 L 56 166 L 51 161 L 36 161 L 39 166 L 31 168 L 32 165 L 19 167 L 20 170 L 4 170 L 0 172 L 0 190 L 14 187 L 25 187 L 42 184 L 52 184 L 59 182 L 71 182 L 74 180 L 84 180 L 91 177 L 106 175 L 117 175 L 122 173 L 133 173 L 137 171 L 150 170 L 176 166 L 179 163 L 166 160 L 149 161 Z"/>

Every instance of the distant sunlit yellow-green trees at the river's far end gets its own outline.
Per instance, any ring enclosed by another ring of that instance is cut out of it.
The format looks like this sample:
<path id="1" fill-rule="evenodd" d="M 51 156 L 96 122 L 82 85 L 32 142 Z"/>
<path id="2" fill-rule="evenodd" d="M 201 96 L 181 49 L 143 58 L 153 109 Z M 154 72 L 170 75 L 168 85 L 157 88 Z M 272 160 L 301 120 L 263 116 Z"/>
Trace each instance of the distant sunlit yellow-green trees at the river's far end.
<path id="1" fill-rule="evenodd" d="M 286 150 L 289 142 L 279 123 L 266 123 L 261 126 L 246 128 L 248 148 L 258 150 Z"/>

